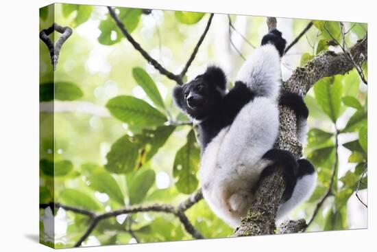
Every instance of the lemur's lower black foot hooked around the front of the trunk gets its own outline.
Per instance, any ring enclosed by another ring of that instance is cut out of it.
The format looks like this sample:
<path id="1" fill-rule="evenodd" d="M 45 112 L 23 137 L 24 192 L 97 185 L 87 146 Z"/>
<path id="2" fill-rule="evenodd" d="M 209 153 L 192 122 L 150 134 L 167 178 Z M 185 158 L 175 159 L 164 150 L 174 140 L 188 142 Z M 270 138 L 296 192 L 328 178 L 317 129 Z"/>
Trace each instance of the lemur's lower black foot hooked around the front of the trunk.
<path id="1" fill-rule="evenodd" d="M 283 194 L 283 201 L 288 201 L 291 198 L 295 185 L 297 183 L 298 168 L 297 163 L 293 154 L 287 150 L 271 149 L 263 155 L 263 159 L 269 159 L 273 161 L 273 164 L 267 166 L 260 174 L 260 179 L 264 176 L 268 176 L 273 172 L 276 165 L 281 165 L 283 168 L 283 175 L 286 182 L 286 188 Z"/>

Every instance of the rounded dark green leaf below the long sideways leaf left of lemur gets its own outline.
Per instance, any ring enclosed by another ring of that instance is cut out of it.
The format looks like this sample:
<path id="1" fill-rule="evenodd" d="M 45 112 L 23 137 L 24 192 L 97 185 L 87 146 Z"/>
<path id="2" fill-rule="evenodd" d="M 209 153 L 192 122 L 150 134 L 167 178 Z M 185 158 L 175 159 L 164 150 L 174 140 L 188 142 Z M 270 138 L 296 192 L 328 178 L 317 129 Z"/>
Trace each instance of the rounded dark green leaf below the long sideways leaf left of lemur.
<path id="1" fill-rule="evenodd" d="M 106 155 L 106 170 L 118 174 L 132 172 L 138 159 L 138 150 L 139 146 L 133 144 L 128 135 L 119 138 Z"/>

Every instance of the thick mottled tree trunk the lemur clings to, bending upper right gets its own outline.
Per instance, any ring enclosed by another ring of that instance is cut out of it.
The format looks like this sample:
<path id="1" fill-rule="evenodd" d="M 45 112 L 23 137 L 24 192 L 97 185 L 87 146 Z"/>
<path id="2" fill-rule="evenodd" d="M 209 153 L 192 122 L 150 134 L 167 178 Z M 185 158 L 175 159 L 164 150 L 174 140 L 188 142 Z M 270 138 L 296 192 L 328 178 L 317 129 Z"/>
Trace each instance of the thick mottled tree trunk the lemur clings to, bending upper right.
<path id="1" fill-rule="evenodd" d="M 267 18 L 269 29 L 273 27 L 273 20 Z M 367 58 L 367 38 L 358 41 L 350 49 L 350 54 L 356 63 Z M 332 51 L 322 52 L 304 67 L 297 67 L 291 78 L 283 82 L 282 89 L 306 95 L 317 80 L 344 74 L 354 67 L 344 53 L 335 54 Z M 296 118 L 293 111 L 287 107 L 279 106 L 280 133 L 276 144 L 277 148 L 291 151 L 295 157 L 302 156 L 302 146 L 297 139 Z M 260 181 L 252 207 L 247 216 L 241 220 L 241 226 L 236 229 L 234 236 L 255 236 L 275 233 L 275 220 L 278 206 L 285 190 L 282 168 L 276 167 L 275 172 Z"/>

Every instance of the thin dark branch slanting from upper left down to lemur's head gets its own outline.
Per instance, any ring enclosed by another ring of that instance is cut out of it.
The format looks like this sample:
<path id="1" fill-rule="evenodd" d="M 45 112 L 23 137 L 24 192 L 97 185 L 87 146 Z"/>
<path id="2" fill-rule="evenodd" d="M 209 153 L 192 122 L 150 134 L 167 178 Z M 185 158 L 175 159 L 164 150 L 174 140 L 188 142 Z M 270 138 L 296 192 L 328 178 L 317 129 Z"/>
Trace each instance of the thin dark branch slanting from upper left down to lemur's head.
<path id="1" fill-rule="evenodd" d="M 121 32 L 123 33 L 125 38 L 127 38 L 127 40 L 130 41 L 130 43 L 132 44 L 134 49 L 136 49 L 136 51 L 140 52 L 141 55 L 145 58 L 145 60 L 147 60 L 147 62 L 149 62 L 149 64 L 151 64 L 155 69 L 157 69 L 162 75 L 167 76 L 167 78 L 174 80 L 178 84 L 183 83 L 182 78 L 180 76 L 175 75 L 174 73 L 171 73 L 171 71 L 168 71 L 167 69 L 165 69 L 165 67 L 162 67 L 162 65 L 160 65 L 160 63 L 157 60 L 152 58 L 147 53 L 147 51 L 145 51 L 143 49 L 143 47 L 141 47 L 141 45 L 139 43 L 137 43 L 134 40 L 134 38 L 132 38 L 131 34 L 127 31 L 127 29 L 125 29 L 125 26 L 122 23 L 122 21 L 119 19 L 117 13 L 115 13 L 114 10 L 110 6 L 108 6 L 108 10 L 110 12 L 110 16 L 112 17 L 112 19 L 114 19 L 115 23 L 117 24 L 117 26 L 119 27 L 119 29 L 121 30 Z"/>

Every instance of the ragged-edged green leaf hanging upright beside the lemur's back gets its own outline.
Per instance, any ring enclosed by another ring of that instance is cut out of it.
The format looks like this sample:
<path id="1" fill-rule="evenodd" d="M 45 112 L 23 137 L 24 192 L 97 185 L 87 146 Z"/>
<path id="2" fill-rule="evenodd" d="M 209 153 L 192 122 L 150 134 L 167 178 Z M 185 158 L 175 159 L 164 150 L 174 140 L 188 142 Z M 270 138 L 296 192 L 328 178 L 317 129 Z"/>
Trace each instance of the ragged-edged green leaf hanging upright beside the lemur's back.
<path id="1" fill-rule="evenodd" d="M 195 139 L 195 133 L 190 130 L 187 142 L 177 154 L 173 165 L 173 177 L 175 186 L 184 194 L 191 194 L 198 185 L 196 172 L 199 168 L 199 147 Z"/>

